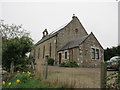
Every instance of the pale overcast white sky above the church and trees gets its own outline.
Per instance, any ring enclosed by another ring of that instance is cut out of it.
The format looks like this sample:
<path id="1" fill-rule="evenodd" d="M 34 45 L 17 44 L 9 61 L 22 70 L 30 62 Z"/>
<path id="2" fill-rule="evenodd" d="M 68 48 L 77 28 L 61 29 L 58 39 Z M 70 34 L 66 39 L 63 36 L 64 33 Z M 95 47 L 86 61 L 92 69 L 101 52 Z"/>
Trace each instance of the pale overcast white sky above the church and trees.
<path id="1" fill-rule="evenodd" d="M 95 34 L 103 48 L 113 47 L 118 45 L 118 2 L 104 1 L 0 2 L 0 19 L 8 24 L 22 24 L 36 43 L 45 28 L 49 33 L 57 30 L 75 14 L 88 34 Z"/>

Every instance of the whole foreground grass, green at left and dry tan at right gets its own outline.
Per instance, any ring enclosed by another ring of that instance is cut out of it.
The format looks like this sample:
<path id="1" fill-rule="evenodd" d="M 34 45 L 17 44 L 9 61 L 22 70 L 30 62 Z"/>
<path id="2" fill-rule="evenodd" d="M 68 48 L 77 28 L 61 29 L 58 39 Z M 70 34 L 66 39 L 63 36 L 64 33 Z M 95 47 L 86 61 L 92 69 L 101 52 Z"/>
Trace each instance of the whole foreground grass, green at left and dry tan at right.
<path id="1" fill-rule="evenodd" d="M 40 65 L 41 64 L 41 65 Z M 44 65 L 36 67 L 35 76 L 17 73 L 3 88 L 100 88 L 100 68 L 48 67 L 48 77 L 44 79 Z M 16 82 L 20 80 L 20 82 Z M 11 85 L 8 83 L 11 82 Z"/>

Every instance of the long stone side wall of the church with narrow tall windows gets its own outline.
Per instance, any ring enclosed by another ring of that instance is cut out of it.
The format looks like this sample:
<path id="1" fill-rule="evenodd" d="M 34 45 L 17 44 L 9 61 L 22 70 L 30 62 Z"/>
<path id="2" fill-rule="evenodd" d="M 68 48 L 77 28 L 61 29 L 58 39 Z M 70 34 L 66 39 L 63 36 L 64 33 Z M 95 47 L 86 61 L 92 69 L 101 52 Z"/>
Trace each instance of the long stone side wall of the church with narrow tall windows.
<path id="1" fill-rule="evenodd" d="M 50 48 L 51 48 L 51 50 L 50 50 Z M 44 60 L 46 55 L 48 55 L 50 58 L 53 58 L 55 60 L 56 54 L 57 54 L 57 52 L 56 52 L 56 36 L 37 45 L 34 50 L 35 50 L 36 62 Z"/>

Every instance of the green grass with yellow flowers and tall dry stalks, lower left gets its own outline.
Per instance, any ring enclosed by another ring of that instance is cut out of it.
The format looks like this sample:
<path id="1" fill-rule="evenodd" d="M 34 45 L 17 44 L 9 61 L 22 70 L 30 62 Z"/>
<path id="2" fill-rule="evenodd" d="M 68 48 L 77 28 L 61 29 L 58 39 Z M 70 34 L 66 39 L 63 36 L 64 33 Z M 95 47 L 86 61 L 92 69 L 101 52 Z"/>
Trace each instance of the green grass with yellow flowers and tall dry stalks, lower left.
<path id="1" fill-rule="evenodd" d="M 43 62 L 40 64 L 43 64 Z M 43 82 L 44 67 L 40 65 L 36 68 L 37 72 L 35 75 L 30 72 L 17 72 L 9 81 L 5 81 L 2 88 L 62 88 L 60 84 L 50 86 L 49 83 Z M 56 71 L 55 73 L 59 72 Z"/>

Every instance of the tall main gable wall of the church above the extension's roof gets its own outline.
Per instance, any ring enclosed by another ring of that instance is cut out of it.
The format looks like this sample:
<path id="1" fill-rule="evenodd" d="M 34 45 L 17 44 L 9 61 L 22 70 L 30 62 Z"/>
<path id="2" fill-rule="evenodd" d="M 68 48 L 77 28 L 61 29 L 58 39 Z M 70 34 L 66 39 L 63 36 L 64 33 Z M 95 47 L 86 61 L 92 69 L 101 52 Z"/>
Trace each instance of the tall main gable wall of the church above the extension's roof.
<path id="1" fill-rule="evenodd" d="M 65 28 L 58 32 L 57 49 L 60 49 L 67 42 L 85 35 L 87 35 L 87 32 L 83 28 L 79 19 L 74 17 L 73 20 L 67 26 L 65 26 Z"/>

